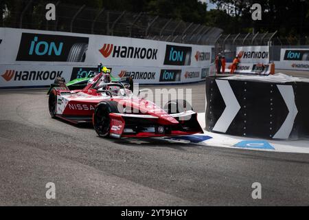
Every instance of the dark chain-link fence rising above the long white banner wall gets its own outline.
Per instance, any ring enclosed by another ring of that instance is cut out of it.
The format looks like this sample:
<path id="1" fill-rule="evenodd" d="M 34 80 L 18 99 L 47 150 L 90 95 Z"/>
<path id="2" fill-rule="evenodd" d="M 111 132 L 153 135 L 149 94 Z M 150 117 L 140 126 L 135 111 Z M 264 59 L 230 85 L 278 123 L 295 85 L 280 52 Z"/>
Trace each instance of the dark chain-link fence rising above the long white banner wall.
<path id="1" fill-rule="evenodd" d="M 214 45 L 222 32 L 219 28 L 165 19 L 144 12 L 117 12 L 58 1 L 56 21 L 47 21 L 45 5 L 49 2 L 21 0 L 14 12 L 3 14 L 2 27 L 128 36 L 140 39 Z"/>

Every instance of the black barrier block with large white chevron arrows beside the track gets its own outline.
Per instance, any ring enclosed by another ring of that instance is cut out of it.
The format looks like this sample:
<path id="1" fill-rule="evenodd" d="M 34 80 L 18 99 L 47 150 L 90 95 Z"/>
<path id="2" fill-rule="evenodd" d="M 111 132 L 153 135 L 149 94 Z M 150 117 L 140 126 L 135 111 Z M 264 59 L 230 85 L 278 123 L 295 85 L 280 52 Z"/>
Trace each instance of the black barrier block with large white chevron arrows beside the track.
<path id="1" fill-rule="evenodd" d="M 309 137 L 309 80 L 284 74 L 206 78 L 206 130 L 267 139 Z"/>

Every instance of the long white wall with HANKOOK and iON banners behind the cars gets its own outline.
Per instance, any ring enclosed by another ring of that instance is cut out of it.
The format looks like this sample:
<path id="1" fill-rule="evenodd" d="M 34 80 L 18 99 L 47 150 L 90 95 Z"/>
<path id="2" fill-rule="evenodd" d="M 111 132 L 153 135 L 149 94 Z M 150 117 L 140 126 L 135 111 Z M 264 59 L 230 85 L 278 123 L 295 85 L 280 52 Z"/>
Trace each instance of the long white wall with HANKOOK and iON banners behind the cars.
<path id="1" fill-rule="evenodd" d="M 214 69 L 214 46 L 0 28 L 0 88 L 43 87 L 97 70 L 140 84 L 194 83 Z"/>

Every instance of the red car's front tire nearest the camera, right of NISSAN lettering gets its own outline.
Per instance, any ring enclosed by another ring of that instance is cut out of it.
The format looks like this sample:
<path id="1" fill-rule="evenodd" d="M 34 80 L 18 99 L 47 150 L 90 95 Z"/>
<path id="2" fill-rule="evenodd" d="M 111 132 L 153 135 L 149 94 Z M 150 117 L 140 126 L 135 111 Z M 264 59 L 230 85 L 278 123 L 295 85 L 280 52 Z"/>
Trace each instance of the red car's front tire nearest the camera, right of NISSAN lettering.
<path id="1" fill-rule="evenodd" d="M 111 118 L 109 113 L 118 113 L 117 102 L 115 101 L 103 101 L 95 107 L 93 113 L 93 127 L 95 132 L 100 137 L 108 137 Z"/>

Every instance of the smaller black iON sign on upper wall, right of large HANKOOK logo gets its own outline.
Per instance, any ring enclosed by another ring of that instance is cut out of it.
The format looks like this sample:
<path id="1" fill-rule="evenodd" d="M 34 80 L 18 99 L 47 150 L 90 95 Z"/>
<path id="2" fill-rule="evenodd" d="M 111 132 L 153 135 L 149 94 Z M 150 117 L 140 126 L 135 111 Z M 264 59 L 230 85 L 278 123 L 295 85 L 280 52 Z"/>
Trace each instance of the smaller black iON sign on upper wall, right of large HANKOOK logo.
<path id="1" fill-rule="evenodd" d="M 190 65 L 191 47 L 166 45 L 164 65 Z"/>

